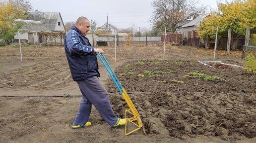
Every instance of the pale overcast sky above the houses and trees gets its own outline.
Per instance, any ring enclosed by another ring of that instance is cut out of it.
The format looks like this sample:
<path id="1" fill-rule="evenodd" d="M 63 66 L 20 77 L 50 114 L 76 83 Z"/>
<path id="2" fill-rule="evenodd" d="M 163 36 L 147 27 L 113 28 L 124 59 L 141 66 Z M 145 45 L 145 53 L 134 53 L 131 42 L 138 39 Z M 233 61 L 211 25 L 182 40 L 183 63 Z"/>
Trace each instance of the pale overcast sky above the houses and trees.
<path id="1" fill-rule="evenodd" d="M 117 28 L 151 28 L 153 0 L 29 0 L 33 10 L 41 12 L 61 12 L 64 24 L 76 21 L 80 16 L 94 20 L 97 27 L 108 21 Z M 224 0 L 199 0 L 208 8 L 217 9 L 217 2 Z M 228 0 L 230 1 L 230 0 Z"/>

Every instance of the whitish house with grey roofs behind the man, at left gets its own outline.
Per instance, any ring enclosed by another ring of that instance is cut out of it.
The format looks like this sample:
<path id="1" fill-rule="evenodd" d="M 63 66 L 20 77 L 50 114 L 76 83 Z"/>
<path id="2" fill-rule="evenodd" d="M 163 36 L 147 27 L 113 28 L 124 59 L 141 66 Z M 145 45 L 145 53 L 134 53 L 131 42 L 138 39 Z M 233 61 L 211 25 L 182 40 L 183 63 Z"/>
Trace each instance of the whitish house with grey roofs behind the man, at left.
<path id="1" fill-rule="evenodd" d="M 14 36 L 15 41 L 21 39 L 30 44 L 58 42 L 63 43 L 65 32 L 64 22 L 60 12 L 29 12 L 27 19 L 17 19 L 22 22 L 18 34 Z M 48 35 L 47 35 L 48 33 Z M 58 36 L 58 33 L 60 36 Z M 57 34 L 58 37 L 51 35 Z"/>

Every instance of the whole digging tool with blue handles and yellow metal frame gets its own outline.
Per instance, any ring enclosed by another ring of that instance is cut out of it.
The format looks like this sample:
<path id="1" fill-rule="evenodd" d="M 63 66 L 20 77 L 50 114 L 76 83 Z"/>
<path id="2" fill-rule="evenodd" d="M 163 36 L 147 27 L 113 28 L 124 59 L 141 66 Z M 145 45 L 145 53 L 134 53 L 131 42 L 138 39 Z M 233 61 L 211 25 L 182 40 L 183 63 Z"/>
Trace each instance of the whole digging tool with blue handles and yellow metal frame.
<path id="1" fill-rule="evenodd" d="M 105 62 L 104 62 L 103 59 L 101 58 L 100 54 L 97 53 L 97 55 L 98 55 L 98 57 L 100 58 L 102 64 L 103 64 L 104 67 L 106 68 L 106 70 L 109 72 L 110 77 L 111 77 L 111 78 L 113 79 L 113 81 L 115 82 L 115 84 L 116 84 L 118 90 L 120 91 L 120 93 L 121 93 L 122 96 L 124 97 L 124 99 L 125 99 L 125 101 L 126 101 L 128 107 L 129 107 L 129 109 L 126 109 L 126 110 L 125 110 L 125 118 L 127 117 L 127 114 L 129 114 L 129 115 L 132 116 L 132 117 L 127 118 L 127 120 L 128 120 L 127 123 L 132 123 L 132 124 L 135 125 L 135 127 L 136 127 L 136 129 L 134 129 L 134 130 L 132 130 L 132 131 L 130 131 L 130 132 L 127 133 L 127 123 L 126 123 L 126 126 L 125 126 L 125 135 L 128 136 L 129 134 L 131 134 L 131 133 L 133 133 L 133 132 L 135 132 L 135 131 L 137 131 L 137 130 L 139 130 L 139 129 L 142 129 L 143 132 L 144 132 L 144 134 L 147 135 L 146 132 L 145 132 L 145 128 L 144 128 L 143 123 L 142 123 L 142 121 L 141 121 L 141 119 L 140 119 L 140 115 L 139 115 L 137 109 L 134 107 L 133 103 L 131 102 L 131 100 L 130 100 L 130 98 L 129 98 L 127 92 L 126 92 L 126 90 L 124 89 L 124 87 L 123 87 L 123 86 L 121 85 L 121 83 L 119 82 L 119 80 L 118 80 L 116 74 L 115 74 L 115 73 L 113 72 L 113 70 L 111 69 L 111 67 L 110 67 L 110 65 L 109 65 L 109 63 L 108 63 L 108 61 L 107 61 L 107 59 L 105 58 L 105 56 L 104 56 L 103 54 L 101 54 L 102 57 L 103 57 L 103 59 L 104 59 L 104 61 L 106 62 L 106 64 L 107 64 L 108 66 L 105 64 Z"/>

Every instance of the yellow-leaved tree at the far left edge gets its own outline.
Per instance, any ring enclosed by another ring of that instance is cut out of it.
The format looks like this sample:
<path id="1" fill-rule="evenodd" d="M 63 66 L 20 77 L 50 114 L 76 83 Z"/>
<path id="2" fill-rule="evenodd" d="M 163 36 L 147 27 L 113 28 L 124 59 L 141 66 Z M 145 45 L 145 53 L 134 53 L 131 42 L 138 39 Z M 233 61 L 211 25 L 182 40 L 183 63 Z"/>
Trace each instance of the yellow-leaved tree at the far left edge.
<path id="1" fill-rule="evenodd" d="M 26 18 L 25 8 L 17 8 L 12 2 L 0 2 L 0 38 L 8 45 L 13 36 L 21 28 L 16 19 Z"/>

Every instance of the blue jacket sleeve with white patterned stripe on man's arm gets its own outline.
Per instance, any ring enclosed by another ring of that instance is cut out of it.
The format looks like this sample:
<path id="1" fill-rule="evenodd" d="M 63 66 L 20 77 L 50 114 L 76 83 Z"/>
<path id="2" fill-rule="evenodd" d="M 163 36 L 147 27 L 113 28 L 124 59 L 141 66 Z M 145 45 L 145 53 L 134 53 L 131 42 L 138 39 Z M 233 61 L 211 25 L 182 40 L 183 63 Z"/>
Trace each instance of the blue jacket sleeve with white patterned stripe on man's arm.
<path id="1" fill-rule="evenodd" d="M 65 36 L 65 40 L 70 55 L 92 55 L 94 53 L 94 48 L 92 46 L 83 45 L 82 41 L 80 40 L 78 34 L 75 31 L 68 32 Z"/>

